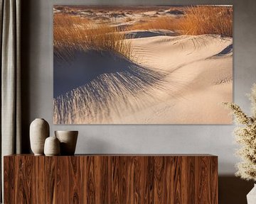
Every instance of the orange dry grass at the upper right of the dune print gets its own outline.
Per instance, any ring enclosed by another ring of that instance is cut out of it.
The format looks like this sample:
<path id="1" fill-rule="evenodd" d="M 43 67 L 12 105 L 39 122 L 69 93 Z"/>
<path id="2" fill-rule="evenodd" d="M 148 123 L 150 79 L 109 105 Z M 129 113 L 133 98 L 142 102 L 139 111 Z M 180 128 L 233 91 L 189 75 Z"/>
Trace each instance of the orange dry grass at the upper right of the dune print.
<path id="1" fill-rule="evenodd" d="M 233 36 L 233 8 L 230 6 L 190 6 L 181 18 L 162 16 L 139 23 L 131 30 L 177 30 L 185 35 L 217 34 Z"/>

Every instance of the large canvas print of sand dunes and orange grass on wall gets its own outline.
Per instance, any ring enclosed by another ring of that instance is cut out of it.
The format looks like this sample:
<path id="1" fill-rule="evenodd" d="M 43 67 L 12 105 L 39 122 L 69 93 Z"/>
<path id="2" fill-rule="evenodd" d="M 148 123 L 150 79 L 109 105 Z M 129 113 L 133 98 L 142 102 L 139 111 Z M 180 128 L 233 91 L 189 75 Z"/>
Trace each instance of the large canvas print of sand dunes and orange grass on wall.
<path id="1" fill-rule="evenodd" d="M 53 7 L 55 124 L 229 124 L 233 6 Z"/>

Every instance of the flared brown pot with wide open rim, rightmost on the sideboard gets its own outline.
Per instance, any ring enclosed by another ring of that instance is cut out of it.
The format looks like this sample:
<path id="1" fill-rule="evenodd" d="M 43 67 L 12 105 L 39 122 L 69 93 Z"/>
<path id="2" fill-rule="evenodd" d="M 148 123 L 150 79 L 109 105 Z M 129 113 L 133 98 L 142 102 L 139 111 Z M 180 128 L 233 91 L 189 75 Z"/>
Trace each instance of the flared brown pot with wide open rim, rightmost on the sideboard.
<path id="1" fill-rule="evenodd" d="M 78 140 L 78 131 L 55 131 L 55 137 L 60 140 L 60 155 L 74 155 Z"/>

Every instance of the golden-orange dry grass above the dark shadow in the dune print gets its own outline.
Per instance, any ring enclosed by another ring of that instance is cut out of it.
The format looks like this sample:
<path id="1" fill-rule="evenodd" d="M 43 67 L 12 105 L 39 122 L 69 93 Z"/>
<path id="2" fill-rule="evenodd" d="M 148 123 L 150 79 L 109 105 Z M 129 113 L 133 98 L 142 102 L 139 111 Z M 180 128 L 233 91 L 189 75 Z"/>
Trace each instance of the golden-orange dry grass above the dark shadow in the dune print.
<path id="1" fill-rule="evenodd" d="M 128 59 L 132 56 L 131 43 L 118 28 L 107 23 L 92 23 L 87 18 L 68 14 L 54 15 L 54 54 L 72 56 L 75 50 L 117 52 Z"/>

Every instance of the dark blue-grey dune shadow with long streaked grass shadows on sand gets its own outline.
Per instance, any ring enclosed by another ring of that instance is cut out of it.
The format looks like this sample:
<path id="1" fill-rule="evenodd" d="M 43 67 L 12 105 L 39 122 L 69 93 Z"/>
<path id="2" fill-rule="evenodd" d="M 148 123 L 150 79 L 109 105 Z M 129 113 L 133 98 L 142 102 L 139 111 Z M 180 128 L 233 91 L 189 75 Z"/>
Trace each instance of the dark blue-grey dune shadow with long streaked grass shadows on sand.
<path id="1" fill-rule="evenodd" d="M 122 115 L 122 109 L 135 111 L 154 100 L 151 96 L 144 104 L 136 104 L 137 94 L 157 89 L 165 76 L 107 51 L 79 51 L 68 61 L 55 57 L 54 122 L 100 123 L 110 111 L 115 115 Z"/>

